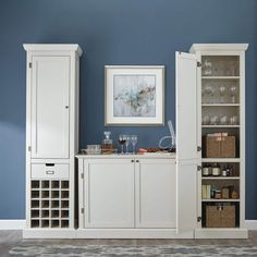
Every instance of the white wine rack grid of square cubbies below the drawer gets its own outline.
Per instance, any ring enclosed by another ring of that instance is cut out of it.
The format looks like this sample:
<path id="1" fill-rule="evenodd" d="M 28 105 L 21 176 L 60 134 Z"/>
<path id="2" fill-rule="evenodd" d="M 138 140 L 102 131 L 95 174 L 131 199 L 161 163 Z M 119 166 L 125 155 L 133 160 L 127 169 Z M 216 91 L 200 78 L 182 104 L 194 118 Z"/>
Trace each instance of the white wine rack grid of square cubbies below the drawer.
<path id="1" fill-rule="evenodd" d="M 30 228 L 69 228 L 69 181 L 33 180 L 30 188 Z"/>

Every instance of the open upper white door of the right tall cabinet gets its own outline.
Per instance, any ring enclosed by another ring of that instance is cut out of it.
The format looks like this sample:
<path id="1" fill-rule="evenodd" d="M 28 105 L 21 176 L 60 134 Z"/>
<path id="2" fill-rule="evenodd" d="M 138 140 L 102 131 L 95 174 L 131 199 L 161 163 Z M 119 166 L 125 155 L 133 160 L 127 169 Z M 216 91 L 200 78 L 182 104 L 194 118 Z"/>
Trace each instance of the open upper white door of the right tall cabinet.
<path id="1" fill-rule="evenodd" d="M 176 158 L 199 158 L 197 152 L 197 61 L 196 56 L 175 53 L 176 90 Z"/>

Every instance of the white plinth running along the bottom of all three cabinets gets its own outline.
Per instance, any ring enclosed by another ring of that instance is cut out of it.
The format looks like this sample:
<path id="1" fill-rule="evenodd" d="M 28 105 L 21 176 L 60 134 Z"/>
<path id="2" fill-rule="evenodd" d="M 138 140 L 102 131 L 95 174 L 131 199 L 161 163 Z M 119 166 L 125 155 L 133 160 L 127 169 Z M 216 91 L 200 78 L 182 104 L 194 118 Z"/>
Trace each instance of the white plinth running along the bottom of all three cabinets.
<path id="1" fill-rule="evenodd" d="M 176 233 L 175 229 L 26 229 L 23 238 L 248 238 L 246 229 L 197 229 Z"/>

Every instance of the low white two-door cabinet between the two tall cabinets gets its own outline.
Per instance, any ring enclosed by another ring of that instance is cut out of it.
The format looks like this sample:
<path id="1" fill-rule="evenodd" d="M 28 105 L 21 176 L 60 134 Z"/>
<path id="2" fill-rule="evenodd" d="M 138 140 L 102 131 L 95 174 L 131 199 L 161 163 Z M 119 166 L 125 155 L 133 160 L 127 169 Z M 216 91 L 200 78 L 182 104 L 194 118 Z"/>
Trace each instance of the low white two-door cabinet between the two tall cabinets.
<path id="1" fill-rule="evenodd" d="M 176 228 L 174 159 L 82 157 L 78 170 L 79 228 Z"/>

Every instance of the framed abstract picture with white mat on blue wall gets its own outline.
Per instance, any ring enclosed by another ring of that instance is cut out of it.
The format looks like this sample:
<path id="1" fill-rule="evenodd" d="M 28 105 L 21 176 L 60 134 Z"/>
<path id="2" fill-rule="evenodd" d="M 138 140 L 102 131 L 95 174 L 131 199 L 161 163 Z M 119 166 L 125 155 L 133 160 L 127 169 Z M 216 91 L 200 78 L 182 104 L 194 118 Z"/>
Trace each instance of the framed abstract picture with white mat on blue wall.
<path id="1" fill-rule="evenodd" d="M 163 125 L 164 66 L 107 65 L 106 125 Z"/>

